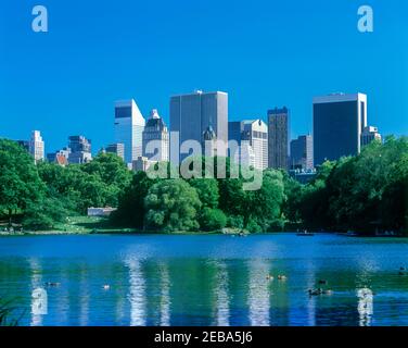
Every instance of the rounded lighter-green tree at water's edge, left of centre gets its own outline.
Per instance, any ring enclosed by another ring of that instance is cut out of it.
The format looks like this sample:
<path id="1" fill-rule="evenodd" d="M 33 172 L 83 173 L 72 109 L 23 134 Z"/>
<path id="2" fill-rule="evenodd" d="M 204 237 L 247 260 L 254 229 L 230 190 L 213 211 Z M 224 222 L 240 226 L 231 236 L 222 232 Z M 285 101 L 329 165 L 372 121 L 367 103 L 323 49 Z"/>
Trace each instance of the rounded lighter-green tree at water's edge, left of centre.
<path id="1" fill-rule="evenodd" d="M 196 190 L 182 179 L 153 185 L 144 200 L 146 228 L 163 232 L 197 231 L 201 201 Z"/>

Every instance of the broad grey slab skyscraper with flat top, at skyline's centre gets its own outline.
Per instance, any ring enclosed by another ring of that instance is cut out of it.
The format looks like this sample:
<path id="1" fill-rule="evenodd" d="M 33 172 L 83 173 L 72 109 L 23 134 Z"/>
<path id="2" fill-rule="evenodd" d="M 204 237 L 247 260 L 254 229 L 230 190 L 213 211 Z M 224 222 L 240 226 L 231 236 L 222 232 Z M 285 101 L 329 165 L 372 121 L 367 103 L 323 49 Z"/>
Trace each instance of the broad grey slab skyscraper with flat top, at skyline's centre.
<path id="1" fill-rule="evenodd" d="M 217 156 L 226 157 L 228 151 L 228 95 L 221 91 L 203 92 L 170 98 L 170 159 L 180 163 L 190 153 L 180 153 L 180 146 L 186 140 L 195 140 L 202 145 L 205 132 L 211 127 L 216 136 Z M 224 146 L 219 144 L 222 142 Z M 203 149 L 203 152 L 205 150 Z"/>

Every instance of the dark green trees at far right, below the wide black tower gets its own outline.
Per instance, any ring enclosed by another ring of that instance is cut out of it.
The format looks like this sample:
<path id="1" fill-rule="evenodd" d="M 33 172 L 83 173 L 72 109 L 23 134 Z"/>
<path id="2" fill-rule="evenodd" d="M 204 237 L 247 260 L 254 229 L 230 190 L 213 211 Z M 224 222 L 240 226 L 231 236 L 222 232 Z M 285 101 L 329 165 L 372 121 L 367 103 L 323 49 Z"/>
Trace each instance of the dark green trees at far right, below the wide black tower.
<path id="1" fill-rule="evenodd" d="M 296 196 L 289 199 L 294 215 L 309 227 L 407 233 L 408 138 L 388 137 L 358 157 L 324 163 Z"/>

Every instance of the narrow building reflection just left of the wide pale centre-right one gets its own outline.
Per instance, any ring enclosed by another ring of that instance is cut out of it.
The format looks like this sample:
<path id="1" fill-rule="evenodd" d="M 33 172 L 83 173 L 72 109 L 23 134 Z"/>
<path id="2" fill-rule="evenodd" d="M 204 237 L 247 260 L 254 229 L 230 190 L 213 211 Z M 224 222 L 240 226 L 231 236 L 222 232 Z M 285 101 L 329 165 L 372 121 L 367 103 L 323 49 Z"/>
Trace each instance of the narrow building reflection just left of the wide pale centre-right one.
<path id="1" fill-rule="evenodd" d="M 216 264 L 216 286 L 215 286 L 215 301 L 216 301 L 216 322 L 217 326 L 229 326 L 230 303 L 229 303 L 229 287 L 228 287 L 228 271 L 225 262 L 217 262 Z"/>

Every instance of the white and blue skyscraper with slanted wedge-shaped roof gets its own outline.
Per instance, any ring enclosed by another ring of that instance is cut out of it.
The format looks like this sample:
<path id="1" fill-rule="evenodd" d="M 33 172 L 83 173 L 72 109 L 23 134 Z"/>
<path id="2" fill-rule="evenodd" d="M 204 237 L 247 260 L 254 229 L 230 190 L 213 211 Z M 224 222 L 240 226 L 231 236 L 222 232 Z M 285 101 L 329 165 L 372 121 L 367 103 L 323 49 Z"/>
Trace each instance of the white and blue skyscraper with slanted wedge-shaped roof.
<path id="1" fill-rule="evenodd" d="M 125 162 L 128 164 L 142 156 L 144 125 L 133 99 L 115 103 L 115 142 L 125 145 Z"/>

